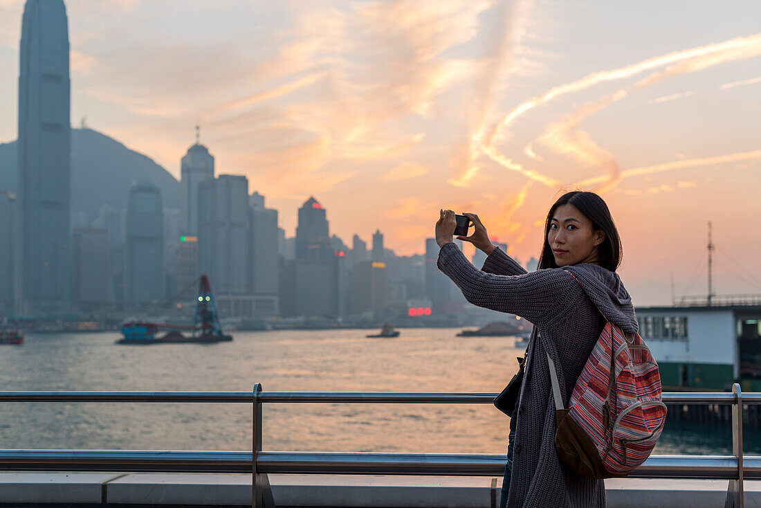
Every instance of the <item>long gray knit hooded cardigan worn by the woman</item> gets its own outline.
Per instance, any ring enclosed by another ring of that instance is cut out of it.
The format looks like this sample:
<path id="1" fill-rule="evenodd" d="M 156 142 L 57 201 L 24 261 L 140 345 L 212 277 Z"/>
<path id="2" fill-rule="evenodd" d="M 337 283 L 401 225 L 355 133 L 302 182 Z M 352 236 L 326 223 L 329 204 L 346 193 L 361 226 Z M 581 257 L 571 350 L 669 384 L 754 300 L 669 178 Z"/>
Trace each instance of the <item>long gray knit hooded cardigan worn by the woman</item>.
<path id="1" fill-rule="evenodd" d="M 555 362 L 568 407 L 605 324 L 603 315 L 625 332 L 637 331 L 632 301 L 618 274 L 595 264 L 527 273 L 498 248 L 479 270 L 454 243 L 441 247 L 438 268 L 473 305 L 519 315 L 534 324 L 517 410 L 508 508 L 605 506 L 603 481 L 576 474 L 556 454 L 555 404 L 545 351 Z M 534 340 L 537 331 L 540 337 Z"/>

